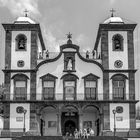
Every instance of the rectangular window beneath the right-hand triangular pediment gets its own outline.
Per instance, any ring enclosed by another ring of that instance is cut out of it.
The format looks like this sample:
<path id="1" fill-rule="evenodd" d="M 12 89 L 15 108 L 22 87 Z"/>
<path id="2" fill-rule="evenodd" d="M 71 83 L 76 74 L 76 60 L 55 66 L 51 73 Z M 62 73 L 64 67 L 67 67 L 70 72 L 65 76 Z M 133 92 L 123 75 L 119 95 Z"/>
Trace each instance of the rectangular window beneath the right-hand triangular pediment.
<path id="1" fill-rule="evenodd" d="M 96 81 L 86 81 L 85 97 L 86 99 L 96 99 Z"/>

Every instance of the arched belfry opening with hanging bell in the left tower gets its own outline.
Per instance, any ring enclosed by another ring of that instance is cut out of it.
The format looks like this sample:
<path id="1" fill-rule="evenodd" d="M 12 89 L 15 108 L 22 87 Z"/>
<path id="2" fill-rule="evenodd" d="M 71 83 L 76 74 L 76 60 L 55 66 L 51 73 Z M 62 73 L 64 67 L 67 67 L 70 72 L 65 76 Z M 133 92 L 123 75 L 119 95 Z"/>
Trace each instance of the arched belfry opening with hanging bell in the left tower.
<path id="1" fill-rule="evenodd" d="M 27 46 L 27 37 L 24 34 L 19 34 L 16 37 L 16 50 L 25 51 Z"/>

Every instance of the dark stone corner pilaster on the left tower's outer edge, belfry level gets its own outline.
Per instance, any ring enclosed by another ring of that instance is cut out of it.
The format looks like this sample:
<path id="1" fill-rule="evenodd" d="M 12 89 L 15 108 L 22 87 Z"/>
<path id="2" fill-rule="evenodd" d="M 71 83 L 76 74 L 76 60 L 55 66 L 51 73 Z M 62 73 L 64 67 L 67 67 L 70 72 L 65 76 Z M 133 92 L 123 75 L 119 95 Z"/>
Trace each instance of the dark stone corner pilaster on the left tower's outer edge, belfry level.
<path id="1" fill-rule="evenodd" d="M 11 68 L 11 42 L 12 32 L 6 31 L 5 33 L 5 68 Z"/>

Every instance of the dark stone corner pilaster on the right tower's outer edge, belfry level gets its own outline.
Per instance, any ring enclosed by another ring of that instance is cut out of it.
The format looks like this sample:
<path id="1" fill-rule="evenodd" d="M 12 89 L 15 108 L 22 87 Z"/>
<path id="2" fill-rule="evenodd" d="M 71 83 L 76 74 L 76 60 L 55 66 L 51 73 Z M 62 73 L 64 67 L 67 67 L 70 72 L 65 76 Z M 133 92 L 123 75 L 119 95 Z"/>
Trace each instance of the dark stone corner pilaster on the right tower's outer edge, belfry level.
<path id="1" fill-rule="evenodd" d="M 127 31 L 127 44 L 128 44 L 128 69 L 134 69 L 133 31 Z"/>

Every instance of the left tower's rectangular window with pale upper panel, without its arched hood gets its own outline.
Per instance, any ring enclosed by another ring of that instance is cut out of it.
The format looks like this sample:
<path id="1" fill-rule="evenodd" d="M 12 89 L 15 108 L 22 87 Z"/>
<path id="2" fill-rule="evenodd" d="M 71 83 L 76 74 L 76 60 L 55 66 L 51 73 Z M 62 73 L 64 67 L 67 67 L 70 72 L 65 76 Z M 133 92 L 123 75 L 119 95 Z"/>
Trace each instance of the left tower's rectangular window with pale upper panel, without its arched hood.
<path id="1" fill-rule="evenodd" d="M 26 81 L 15 82 L 15 99 L 25 100 L 27 97 Z"/>

